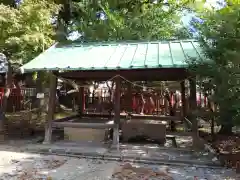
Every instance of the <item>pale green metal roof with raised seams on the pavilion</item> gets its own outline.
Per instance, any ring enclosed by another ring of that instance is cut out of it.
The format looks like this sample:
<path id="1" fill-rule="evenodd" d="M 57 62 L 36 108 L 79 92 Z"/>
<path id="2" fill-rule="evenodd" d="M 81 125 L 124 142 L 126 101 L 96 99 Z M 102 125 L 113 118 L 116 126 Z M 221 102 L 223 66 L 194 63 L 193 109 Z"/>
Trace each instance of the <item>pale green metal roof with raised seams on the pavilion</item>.
<path id="1" fill-rule="evenodd" d="M 29 72 L 183 68 L 187 66 L 186 60 L 189 57 L 199 58 L 200 54 L 200 46 L 193 40 L 68 45 L 58 43 L 21 69 Z"/>

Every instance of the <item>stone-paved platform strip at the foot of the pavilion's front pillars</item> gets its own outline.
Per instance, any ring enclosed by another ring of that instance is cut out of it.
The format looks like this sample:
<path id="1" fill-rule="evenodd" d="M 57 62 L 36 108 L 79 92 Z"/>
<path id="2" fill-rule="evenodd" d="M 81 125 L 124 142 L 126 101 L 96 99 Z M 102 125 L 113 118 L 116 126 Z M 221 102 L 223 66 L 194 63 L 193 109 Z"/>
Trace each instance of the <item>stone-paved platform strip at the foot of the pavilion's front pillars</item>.
<path id="1" fill-rule="evenodd" d="M 111 149 L 103 144 L 58 142 L 52 145 L 28 145 L 24 149 L 32 152 L 51 152 L 85 156 L 101 156 L 116 159 L 138 159 L 147 161 L 174 161 L 176 163 L 195 163 L 204 165 L 219 165 L 212 154 L 207 152 L 193 153 L 187 149 L 173 149 L 158 145 L 121 144 L 119 150 Z"/>

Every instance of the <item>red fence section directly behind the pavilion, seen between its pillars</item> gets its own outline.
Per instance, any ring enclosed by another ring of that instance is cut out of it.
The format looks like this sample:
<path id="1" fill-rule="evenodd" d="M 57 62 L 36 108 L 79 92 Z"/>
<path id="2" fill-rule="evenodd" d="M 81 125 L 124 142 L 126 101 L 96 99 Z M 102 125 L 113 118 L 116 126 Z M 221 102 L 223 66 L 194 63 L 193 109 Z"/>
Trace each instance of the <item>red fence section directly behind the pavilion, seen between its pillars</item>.
<path id="1" fill-rule="evenodd" d="M 163 98 L 161 95 L 152 95 L 148 97 L 144 97 L 145 104 L 143 106 L 142 98 L 139 95 L 132 95 L 132 100 L 129 103 L 127 98 L 121 98 L 121 110 L 122 111 L 131 111 L 134 113 L 144 113 L 144 114 L 166 114 L 170 111 L 170 106 L 168 101 Z M 175 105 L 177 109 L 181 110 L 182 102 L 181 95 L 178 97 L 174 97 L 172 95 L 170 97 L 172 107 Z M 128 102 L 127 102 L 128 101 Z M 85 96 L 85 105 L 86 111 L 96 111 L 96 112 L 105 112 L 108 111 L 110 105 L 110 97 L 88 97 Z M 186 98 L 186 102 L 188 104 L 188 98 Z M 207 107 L 207 99 L 206 97 L 197 96 L 197 105 L 198 107 Z M 130 107 L 129 107 L 130 106 Z M 112 107 L 111 107 L 112 108 Z M 188 108 L 188 106 L 187 106 Z"/>

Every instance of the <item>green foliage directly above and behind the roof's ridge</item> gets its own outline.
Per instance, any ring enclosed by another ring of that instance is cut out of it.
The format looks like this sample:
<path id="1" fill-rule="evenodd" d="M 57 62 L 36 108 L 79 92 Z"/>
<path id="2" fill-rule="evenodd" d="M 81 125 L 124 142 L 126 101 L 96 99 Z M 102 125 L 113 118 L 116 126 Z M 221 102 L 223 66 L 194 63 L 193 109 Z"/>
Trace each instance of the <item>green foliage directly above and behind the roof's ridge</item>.
<path id="1" fill-rule="evenodd" d="M 189 37 L 181 27 L 181 11 L 192 1 L 103 0 L 73 2 L 70 31 L 86 41 L 160 40 Z M 97 17 L 97 14 L 105 18 Z"/>

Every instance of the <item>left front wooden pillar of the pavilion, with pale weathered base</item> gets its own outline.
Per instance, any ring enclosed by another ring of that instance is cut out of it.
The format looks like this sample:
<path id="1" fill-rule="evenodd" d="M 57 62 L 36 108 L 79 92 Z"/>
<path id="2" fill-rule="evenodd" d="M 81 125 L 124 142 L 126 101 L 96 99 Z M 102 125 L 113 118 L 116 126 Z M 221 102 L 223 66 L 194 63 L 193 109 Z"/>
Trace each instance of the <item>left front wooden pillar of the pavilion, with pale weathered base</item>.
<path id="1" fill-rule="evenodd" d="M 57 78 L 50 74 L 50 87 L 49 87 L 49 101 L 48 101 L 48 113 L 45 124 L 45 138 L 43 144 L 50 144 L 52 141 L 52 120 L 54 119 L 55 107 L 56 107 L 56 87 Z"/>

